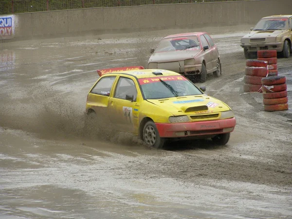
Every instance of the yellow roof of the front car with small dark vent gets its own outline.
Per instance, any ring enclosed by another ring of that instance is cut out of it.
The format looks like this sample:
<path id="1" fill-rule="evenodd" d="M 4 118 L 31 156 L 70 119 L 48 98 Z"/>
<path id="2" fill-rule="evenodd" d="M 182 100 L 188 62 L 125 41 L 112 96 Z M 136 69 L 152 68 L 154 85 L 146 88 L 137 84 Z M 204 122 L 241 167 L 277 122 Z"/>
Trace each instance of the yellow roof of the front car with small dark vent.
<path id="1" fill-rule="evenodd" d="M 160 72 L 162 74 L 155 75 L 153 72 Z M 102 76 L 112 75 L 112 74 L 128 74 L 131 76 L 135 76 L 136 78 L 148 78 L 148 77 L 164 77 L 164 76 L 179 76 L 181 74 L 161 69 L 143 69 L 143 70 L 130 70 L 130 71 L 122 71 L 116 73 L 106 73 Z"/>

